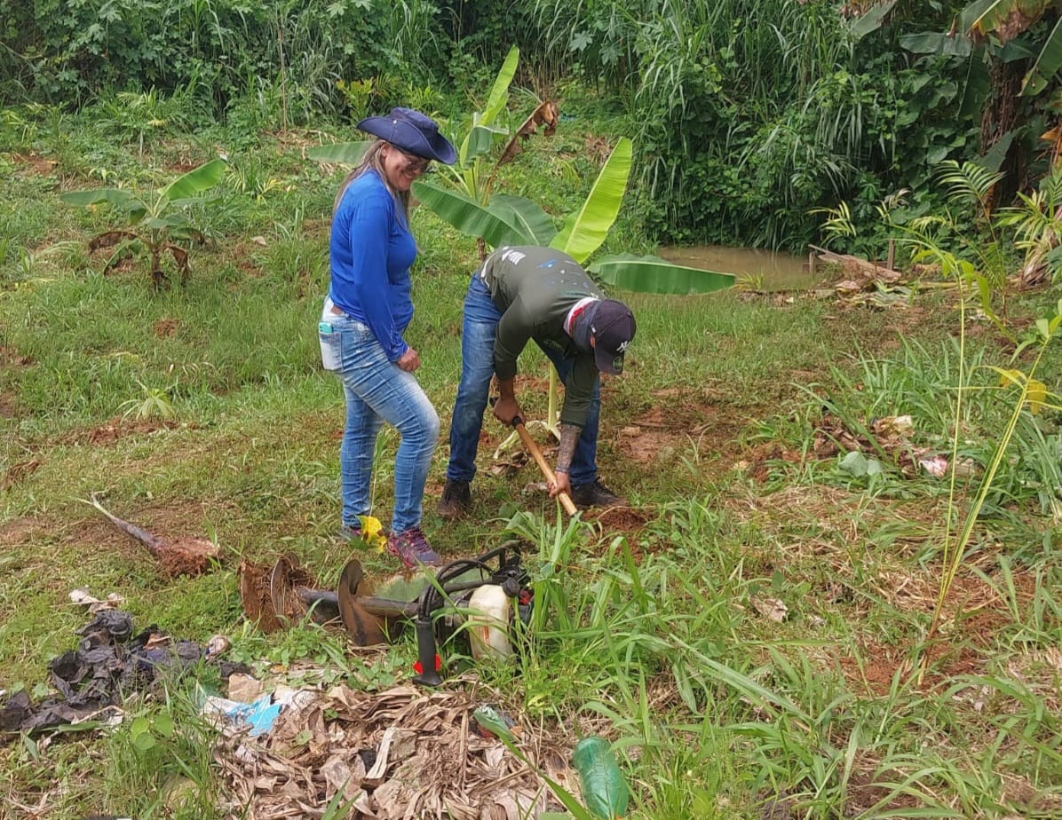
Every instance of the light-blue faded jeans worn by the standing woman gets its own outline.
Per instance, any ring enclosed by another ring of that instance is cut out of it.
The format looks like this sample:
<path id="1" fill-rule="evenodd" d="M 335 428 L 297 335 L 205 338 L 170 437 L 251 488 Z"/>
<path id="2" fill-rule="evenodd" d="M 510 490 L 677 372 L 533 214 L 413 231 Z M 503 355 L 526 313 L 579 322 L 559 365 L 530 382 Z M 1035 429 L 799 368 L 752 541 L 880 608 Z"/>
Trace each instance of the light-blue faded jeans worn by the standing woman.
<path id="1" fill-rule="evenodd" d="M 331 312 L 325 300 L 318 334 L 326 370 L 343 382 L 346 429 L 339 449 L 343 523 L 358 524 L 372 510 L 373 454 L 383 422 L 398 429 L 395 503 L 391 530 L 421 525 L 424 484 L 439 443 L 439 414 L 412 373 L 389 362 L 366 325 Z M 329 330 L 330 329 L 330 330 Z"/>

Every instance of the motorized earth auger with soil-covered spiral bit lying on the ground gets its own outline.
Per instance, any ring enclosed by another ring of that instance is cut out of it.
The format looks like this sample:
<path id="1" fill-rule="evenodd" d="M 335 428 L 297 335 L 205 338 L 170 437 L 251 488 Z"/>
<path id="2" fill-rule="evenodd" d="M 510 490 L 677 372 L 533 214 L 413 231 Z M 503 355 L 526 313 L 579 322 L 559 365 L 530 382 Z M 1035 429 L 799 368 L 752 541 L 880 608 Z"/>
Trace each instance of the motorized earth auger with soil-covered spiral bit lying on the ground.
<path id="1" fill-rule="evenodd" d="M 316 587 L 294 556 L 272 568 L 244 562 L 240 598 L 247 617 L 266 632 L 306 617 L 340 626 L 357 646 L 394 643 L 407 624 L 416 633 L 413 680 L 443 682 L 443 656 L 508 658 L 515 653 L 516 622 L 527 625 L 533 593 L 519 542 L 508 541 L 476 558 L 461 558 L 412 581 L 394 579 L 374 592 L 357 558 L 347 561 L 336 591 Z"/>

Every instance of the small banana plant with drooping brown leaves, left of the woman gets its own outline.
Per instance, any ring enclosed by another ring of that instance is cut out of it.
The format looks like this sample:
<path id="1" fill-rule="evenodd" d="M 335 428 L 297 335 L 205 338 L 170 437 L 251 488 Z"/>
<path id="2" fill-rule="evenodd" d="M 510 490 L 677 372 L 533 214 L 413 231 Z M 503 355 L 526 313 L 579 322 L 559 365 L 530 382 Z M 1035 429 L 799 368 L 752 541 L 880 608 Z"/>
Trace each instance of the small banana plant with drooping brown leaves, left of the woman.
<path id="1" fill-rule="evenodd" d="M 104 231 L 88 244 L 90 250 L 115 248 L 104 265 L 109 271 L 127 256 L 147 254 L 155 290 L 168 281 L 162 272 L 161 257 L 169 251 L 181 274 L 181 284 L 188 282 L 188 249 L 177 242 L 190 244 L 202 240 L 189 210 L 191 206 L 209 202 L 203 192 L 213 188 L 225 176 L 225 160 L 213 159 L 177 177 L 158 193 L 139 195 L 129 188 L 98 188 L 61 195 L 68 205 L 95 208 L 106 203 L 123 214 L 125 226 Z"/>

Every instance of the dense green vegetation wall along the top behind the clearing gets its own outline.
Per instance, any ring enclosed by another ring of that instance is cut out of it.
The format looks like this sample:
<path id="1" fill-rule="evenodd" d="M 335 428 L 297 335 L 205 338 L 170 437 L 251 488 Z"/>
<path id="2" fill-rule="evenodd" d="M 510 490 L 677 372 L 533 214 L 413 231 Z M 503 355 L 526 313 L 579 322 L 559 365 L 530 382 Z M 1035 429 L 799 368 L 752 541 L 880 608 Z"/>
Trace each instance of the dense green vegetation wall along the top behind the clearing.
<path id="1" fill-rule="evenodd" d="M 0 98 L 143 128 L 250 133 L 398 102 L 449 120 L 452 92 L 516 45 L 539 98 L 563 108 L 572 78 L 606 92 L 635 139 L 644 229 L 668 241 L 802 249 L 811 209 L 843 200 L 867 252 L 883 199 L 903 196 L 908 221 L 940 205 L 942 160 L 1003 169 L 1007 204 L 1057 145 L 1041 140 L 1062 37 L 1046 0 L 3 0 L 0 19 Z"/>

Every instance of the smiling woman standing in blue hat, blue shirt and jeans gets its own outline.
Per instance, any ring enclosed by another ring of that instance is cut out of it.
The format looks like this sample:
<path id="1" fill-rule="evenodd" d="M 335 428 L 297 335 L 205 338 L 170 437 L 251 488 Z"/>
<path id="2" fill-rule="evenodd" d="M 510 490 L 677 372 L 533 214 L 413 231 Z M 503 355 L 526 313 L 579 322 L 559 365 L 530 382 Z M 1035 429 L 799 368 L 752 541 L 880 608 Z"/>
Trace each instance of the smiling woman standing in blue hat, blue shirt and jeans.
<path id="1" fill-rule="evenodd" d="M 346 397 L 340 531 L 358 536 L 359 516 L 371 511 L 373 454 L 387 421 L 401 436 L 388 549 L 407 566 L 438 564 L 421 513 L 439 414 L 413 376 L 421 357 L 402 338 L 413 317 L 409 271 L 416 259 L 409 189 L 431 160 L 451 164 L 457 152 L 431 118 L 410 108 L 370 117 L 358 127 L 376 140 L 336 196 L 331 281 L 319 326 L 322 362 L 343 382 Z"/>

